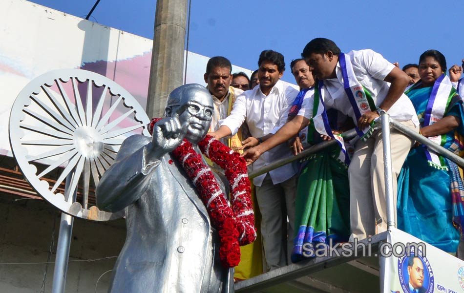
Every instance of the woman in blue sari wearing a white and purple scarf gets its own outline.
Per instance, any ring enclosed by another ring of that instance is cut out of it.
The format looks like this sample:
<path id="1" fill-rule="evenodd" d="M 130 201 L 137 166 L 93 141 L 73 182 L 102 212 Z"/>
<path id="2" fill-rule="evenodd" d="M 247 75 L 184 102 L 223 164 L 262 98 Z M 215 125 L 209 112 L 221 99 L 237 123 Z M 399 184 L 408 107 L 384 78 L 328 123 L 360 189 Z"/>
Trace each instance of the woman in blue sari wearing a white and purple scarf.
<path id="1" fill-rule="evenodd" d="M 446 60 L 437 50 L 419 58 L 421 80 L 405 94 L 421 123 L 420 133 L 444 148 L 463 150 L 463 102 L 445 75 Z M 464 188 L 457 165 L 416 146 L 398 178 L 398 228 L 446 252 L 460 239 Z"/>

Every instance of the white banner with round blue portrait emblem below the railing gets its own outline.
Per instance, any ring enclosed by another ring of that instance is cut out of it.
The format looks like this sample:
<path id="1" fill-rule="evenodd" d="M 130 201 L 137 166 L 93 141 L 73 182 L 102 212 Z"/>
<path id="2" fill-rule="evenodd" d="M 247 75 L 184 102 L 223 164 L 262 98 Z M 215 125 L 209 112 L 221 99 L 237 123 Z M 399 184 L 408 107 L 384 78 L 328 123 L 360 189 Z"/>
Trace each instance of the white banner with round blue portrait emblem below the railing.
<path id="1" fill-rule="evenodd" d="M 398 229 L 387 241 L 383 293 L 464 292 L 464 261 Z"/>

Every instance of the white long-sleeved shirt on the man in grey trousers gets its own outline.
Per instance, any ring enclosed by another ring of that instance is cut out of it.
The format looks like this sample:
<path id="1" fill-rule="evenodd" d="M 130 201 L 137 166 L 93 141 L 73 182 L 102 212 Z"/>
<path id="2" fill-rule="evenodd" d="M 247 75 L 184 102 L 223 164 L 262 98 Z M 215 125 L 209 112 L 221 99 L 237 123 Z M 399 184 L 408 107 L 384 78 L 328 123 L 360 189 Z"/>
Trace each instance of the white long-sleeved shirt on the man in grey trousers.
<path id="1" fill-rule="evenodd" d="M 238 128 L 247 122 L 253 137 L 262 137 L 276 132 L 281 125 L 287 121 L 288 111 L 295 100 L 298 91 L 283 82 L 278 81 L 271 89 L 269 95 L 265 96 L 259 86 L 252 90 L 243 92 L 235 100 L 231 115 L 220 121 L 220 125 L 231 129 L 232 135 L 237 133 Z M 283 121 L 283 123 L 281 123 Z M 273 132 L 274 130 L 274 132 Z M 283 143 L 261 155 L 252 165 L 251 170 L 257 170 L 267 166 L 274 160 L 292 156 L 287 143 Z M 290 179 L 296 173 L 294 163 L 284 165 L 269 172 L 274 184 Z M 255 186 L 261 186 L 266 174 L 253 179 Z"/>

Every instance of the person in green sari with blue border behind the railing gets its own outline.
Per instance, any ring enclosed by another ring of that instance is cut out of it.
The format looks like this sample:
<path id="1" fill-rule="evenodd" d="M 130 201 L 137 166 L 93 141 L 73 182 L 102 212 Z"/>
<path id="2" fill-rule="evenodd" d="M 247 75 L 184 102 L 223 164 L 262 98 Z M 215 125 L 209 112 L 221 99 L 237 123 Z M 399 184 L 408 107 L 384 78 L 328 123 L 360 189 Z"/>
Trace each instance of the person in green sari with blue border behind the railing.
<path id="1" fill-rule="evenodd" d="M 314 88 L 300 91 L 290 109 L 287 121 L 292 120 L 301 108 L 305 96 L 314 95 Z M 325 111 L 325 110 L 324 110 Z M 338 129 L 338 112 L 330 109 L 327 119 Z M 319 134 L 312 122 L 301 130 L 290 146 L 294 154 L 301 152 L 303 143 L 311 145 L 330 140 Z M 300 174 L 295 200 L 295 238 L 291 255 L 292 262 L 314 256 L 319 243 L 329 244 L 348 241 L 350 235 L 347 166 L 339 160 L 340 147 L 331 146 L 300 162 Z"/>

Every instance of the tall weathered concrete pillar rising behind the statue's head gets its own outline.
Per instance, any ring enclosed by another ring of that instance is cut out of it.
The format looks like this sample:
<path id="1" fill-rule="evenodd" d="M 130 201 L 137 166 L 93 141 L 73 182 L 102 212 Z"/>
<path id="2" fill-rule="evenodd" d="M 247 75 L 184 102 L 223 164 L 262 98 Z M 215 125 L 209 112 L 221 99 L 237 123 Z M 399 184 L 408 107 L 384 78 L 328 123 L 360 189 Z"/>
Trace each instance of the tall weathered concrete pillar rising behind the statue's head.
<path id="1" fill-rule="evenodd" d="M 157 0 L 147 115 L 161 117 L 169 93 L 182 85 L 187 0 Z"/>

